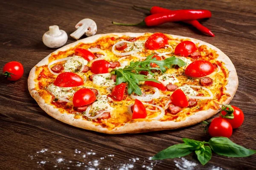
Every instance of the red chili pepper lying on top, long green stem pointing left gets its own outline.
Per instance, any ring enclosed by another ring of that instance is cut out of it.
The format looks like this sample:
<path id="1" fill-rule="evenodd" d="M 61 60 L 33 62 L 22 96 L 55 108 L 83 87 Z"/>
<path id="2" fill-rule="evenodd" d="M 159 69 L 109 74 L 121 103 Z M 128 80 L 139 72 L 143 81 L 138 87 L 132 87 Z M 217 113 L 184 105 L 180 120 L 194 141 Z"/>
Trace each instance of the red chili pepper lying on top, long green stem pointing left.
<path id="1" fill-rule="evenodd" d="M 192 10 L 192 9 L 181 9 L 176 11 L 169 11 L 166 13 L 152 14 L 141 23 L 137 24 L 123 24 L 123 23 L 114 23 L 121 26 L 158 26 L 163 23 L 177 22 L 183 20 L 198 20 L 203 18 L 209 18 L 212 16 L 212 13 L 208 10 Z"/>

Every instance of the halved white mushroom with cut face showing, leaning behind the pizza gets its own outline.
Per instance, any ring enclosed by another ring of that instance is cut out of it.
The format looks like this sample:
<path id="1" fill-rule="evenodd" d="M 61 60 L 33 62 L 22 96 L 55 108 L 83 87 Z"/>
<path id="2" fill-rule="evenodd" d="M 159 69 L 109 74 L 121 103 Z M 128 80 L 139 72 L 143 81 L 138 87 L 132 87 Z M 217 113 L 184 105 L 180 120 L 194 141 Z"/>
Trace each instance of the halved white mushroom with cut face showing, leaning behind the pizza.
<path id="1" fill-rule="evenodd" d="M 86 35 L 87 37 L 90 37 L 92 35 L 95 35 L 97 32 L 97 25 L 96 23 L 91 20 L 90 18 L 85 18 L 79 23 L 76 24 L 77 30 L 70 34 L 71 37 L 78 40 L 82 35 Z"/>

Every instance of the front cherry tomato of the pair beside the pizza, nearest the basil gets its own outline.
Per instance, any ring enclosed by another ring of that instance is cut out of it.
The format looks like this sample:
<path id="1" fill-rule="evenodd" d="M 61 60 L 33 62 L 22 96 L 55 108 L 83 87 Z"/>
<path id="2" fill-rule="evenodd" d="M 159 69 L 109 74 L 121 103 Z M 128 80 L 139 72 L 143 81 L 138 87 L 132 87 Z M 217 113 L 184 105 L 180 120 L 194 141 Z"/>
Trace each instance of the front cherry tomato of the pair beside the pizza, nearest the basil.
<path id="1" fill-rule="evenodd" d="M 208 132 L 210 136 L 223 136 L 229 138 L 232 135 L 231 124 L 221 117 L 214 118 L 209 125 Z"/>

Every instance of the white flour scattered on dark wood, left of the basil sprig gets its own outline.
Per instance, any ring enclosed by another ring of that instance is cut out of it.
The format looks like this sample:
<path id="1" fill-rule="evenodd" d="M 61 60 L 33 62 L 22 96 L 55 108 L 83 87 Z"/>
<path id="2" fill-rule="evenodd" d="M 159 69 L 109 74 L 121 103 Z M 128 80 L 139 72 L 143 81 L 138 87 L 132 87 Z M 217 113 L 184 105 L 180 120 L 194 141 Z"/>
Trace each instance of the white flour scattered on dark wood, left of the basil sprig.
<path id="1" fill-rule="evenodd" d="M 148 159 L 131 157 L 129 159 L 123 159 L 122 162 L 117 162 L 114 154 L 108 154 L 100 157 L 99 159 L 95 159 L 94 155 L 96 155 L 96 153 L 93 152 L 93 150 L 86 151 L 85 149 L 74 150 L 74 153 L 76 153 L 74 154 L 74 160 L 76 161 L 74 161 L 72 159 L 68 160 L 67 158 L 65 158 L 65 152 L 63 151 L 47 151 L 48 149 L 42 149 L 36 152 L 35 155 L 29 155 L 31 159 L 37 160 L 38 168 L 42 168 L 42 166 L 45 166 L 45 164 L 47 164 L 47 166 L 51 164 L 54 169 L 100 170 L 101 168 L 104 168 L 104 170 L 134 170 L 136 169 L 135 166 L 139 165 L 139 167 L 142 167 L 145 170 L 152 170 L 157 164 L 157 161 L 151 161 L 151 157 L 149 157 Z M 55 163 L 52 162 L 52 158 L 55 158 Z M 100 162 L 103 159 L 106 159 L 104 160 L 104 162 L 110 161 L 109 164 L 112 165 L 110 165 L 110 167 L 99 168 L 100 164 L 103 165 L 103 163 Z"/>

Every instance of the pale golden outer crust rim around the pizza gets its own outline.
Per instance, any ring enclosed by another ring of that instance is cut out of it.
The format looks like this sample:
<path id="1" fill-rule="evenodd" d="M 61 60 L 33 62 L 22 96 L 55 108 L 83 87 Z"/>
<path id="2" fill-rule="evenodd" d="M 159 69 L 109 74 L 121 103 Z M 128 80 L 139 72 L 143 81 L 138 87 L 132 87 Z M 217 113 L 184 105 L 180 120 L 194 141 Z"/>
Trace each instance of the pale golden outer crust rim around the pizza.
<path id="1" fill-rule="evenodd" d="M 62 48 L 59 48 L 58 50 L 54 51 L 53 53 L 49 54 L 47 57 L 45 57 L 41 62 L 39 62 L 37 65 L 35 65 L 34 68 L 29 73 L 29 78 L 28 78 L 28 88 L 29 88 L 29 93 L 31 96 L 38 102 L 38 105 L 50 116 L 52 116 L 55 119 L 60 120 L 61 122 L 67 123 L 69 125 L 75 126 L 75 127 L 80 127 L 86 130 L 93 130 L 101 133 L 109 133 L 109 134 L 121 134 L 121 133 L 142 133 L 142 132 L 149 132 L 149 131 L 157 131 L 157 130 L 170 130 L 170 129 L 177 129 L 181 127 L 187 127 L 191 125 L 195 125 L 199 122 L 202 122 L 206 119 L 209 119 L 210 117 L 214 116 L 218 111 L 209 109 L 207 111 L 198 111 L 194 113 L 194 115 L 187 117 L 184 121 L 180 122 L 174 122 L 174 121 L 165 121 L 165 122 L 160 122 L 157 120 L 153 120 L 151 122 L 128 122 L 124 126 L 121 127 L 116 127 L 112 130 L 108 130 L 107 128 L 103 128 L 100 125 L 94 125 L 93 122 L 83 120 L 83 119 L 75 119 L 73 114 L 70 113 L 61 113 L 58 111 L 57 108 L 55 108 L 53 105 L 49 105 L 44 102 L 44 99 L 41 98 L 41 96 L 37 93 L 37 91 L 34 89 L 35 88 L 35 68 L 38 66 L 42 65 L 47 65 L 48 64 L 48 59 L 52 54 L 57 54 L 59 51 L 66 51 L 70 48 L 75 47 L 78 45 L 80 42 L 83 43 L 93 43 L 96 40 L 98 40 L 100 37 L 104 36 L 129 36 L 129 37 L 140 37 L 143 36 L 144 34 L 147 33 L 111 33 L 111 34 L 98 34 L 92 37 L 87 37 L 82 40 L 73 42 L 69 45 L 66 45 Z M 151 33 L 149 33 L 151 34 Z M 223 61 L 225 63 L 225 67 L 229 71 L 229 77 L 228 77 L 228 83 L 226 85 L 227 88 L 227 93 L 230 94 L 230 97 L 227 98 L 227 100 L 223 104 L 229 104 L 230 101 L 233 99 L 233 96 L 236 93 L 236 90 L 238 88 L 238 77 L 236 74 L 236 69 L 231 62 L 230 58 L 227 57 L 226 54 L 224 54 L 221 50 L 216 48 L 215 46 L 203 42 L 201 40 L 197 40 L 194 38 L 189 38 L 189 37 L 182 37 L 182 36 L 177 36 L 177 35 L 172 35 L 173 38 L 179 38 L 179 39 L 190 39 L 195 43 L 199 43 L 200 45 L 207 45 L 209 48 L 212 48 L 213 50 L 217 51 L 217 54 L 219 54 L 219 57 L 217 58 L 219 61 Z"/>

